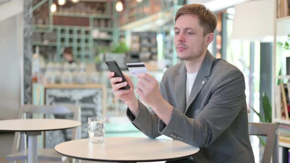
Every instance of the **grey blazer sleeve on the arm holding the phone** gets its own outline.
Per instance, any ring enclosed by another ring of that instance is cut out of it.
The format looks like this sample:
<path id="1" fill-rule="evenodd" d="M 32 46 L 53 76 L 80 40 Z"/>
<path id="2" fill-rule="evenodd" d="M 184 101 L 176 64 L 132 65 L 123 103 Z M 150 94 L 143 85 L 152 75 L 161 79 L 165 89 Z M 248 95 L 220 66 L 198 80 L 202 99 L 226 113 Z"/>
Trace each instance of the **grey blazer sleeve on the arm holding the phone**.
<path id="1" fill-rule="evenodd" d="M 163 78 L 162 78 L 162 81 L 163 81 Z M 159 91 L 164 98 L 162 82 L 159 84 Z M 160 118 L 157 116 L 157 114 L 153 110 L 149 111 L 149 109 L 145 107 L 145 105 L 142 102 L 140 102 L 139 100 L 138 102 L 139 102 L 139 110 L 136 117 L 130 111 L 130 109 L 127 108 L 126 114 L 127 114 L 128 119 L 132 122 L 132 124 L 137 129 L 143 132 L 146 136 L 150 138 L 155 138 L 155 137 L 160 136 L 161 134 L 159 133 L 159 130 L 158 130 Z"/>

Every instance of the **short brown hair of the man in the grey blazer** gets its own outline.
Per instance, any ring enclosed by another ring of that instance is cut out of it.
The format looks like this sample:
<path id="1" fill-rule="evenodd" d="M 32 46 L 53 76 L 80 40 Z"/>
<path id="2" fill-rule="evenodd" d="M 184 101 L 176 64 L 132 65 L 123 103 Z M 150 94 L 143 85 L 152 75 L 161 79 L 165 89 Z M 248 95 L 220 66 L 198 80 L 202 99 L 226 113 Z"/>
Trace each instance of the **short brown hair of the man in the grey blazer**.
<path id="1" fill-rule="evenodd" d="M 175 22 L 181 15 L 196 15 L 200 20 L 200 25 L 203 27 L 203 34 L 213 33 L 216 28 L 216 17 L 212 11 L 202 4 L 188 4 L 178 9 L 175 15 Z"/>

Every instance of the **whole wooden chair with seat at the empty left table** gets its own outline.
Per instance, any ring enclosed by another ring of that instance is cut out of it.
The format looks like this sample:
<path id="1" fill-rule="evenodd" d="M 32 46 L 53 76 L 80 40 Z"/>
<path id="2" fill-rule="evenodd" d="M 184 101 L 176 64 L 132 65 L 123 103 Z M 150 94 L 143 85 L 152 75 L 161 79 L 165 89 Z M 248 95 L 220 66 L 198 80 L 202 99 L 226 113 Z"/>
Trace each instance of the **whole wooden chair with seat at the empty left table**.
<path id="1" fill-rule="evenodd" d="M 33 106 L 23 105 L 18 112 L 18 118 L 26 118 L 27 114 L 73 114 L 73 120 L 81 121 L 81 108 L 75 105 L 63 106 Z M 81 136 L 81 127 L 72 129 L 72 140 L 79 139 Z M 13 140 L 12 154 L 5 157 L 6 161 L 25 161 L 28 159 L 28 151 L 26 149 L 26 136 L 24 133 L 16 132 Z M 72 162 L 66 157 L 58 154 L 54 149 L 37 149 L 38 161 L 49 162 Z"/>

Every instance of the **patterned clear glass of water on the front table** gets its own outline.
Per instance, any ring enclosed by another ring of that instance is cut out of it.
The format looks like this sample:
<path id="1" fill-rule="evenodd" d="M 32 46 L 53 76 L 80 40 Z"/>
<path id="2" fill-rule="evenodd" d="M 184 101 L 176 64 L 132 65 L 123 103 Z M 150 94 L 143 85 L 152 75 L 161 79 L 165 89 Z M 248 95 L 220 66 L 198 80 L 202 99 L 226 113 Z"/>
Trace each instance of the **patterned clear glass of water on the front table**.
<path id="1" fill-rule="evenodd" d="M 87 119 L 88 141 L 94 144 L 103 143 L 105 136 L 105 118 L 89 117 Z"/>

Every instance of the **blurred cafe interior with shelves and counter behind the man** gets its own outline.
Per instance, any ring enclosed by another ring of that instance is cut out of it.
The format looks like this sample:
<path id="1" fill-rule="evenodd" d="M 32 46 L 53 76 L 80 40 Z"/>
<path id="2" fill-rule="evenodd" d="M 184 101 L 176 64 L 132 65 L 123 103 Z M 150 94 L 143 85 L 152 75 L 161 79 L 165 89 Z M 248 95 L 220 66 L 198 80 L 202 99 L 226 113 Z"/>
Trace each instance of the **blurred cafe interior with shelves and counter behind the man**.
<path id="1" fill-rule="evenodd" d="M 114 97 L 104 61 L 116 60 L 128 75 L 126 63 L 144 62 L 161 81 L 168 67 L 181 62 L 174 48 L 174 15 L 191 3 L 216 15 L 208 50 L 243 72 L 249 121 L 261 122 L 255 109 L 289 126 L 275 116 L 273 89 L 276 76 L 287 83 L 290 75 L 289 0 L 0 0 L 0 120 L 17 118 L 23 104 L 74 104 L 81 106 L 81 138 L 87 138 L 87 118 L 93 116 L 106 118 L 106 137 L 145 136 Z M 263 97 L 270 109 L 262 105 Z M 11 152 L 13 135 L 0 133 L 0 158 Z M 70 136 L 46 132 L 40 146 L 53 147 Z M 281 161 L 288 161 L 289 137 L 279 142 Z M 255 136 L 251 141 L 259 162 L 263 145 Z"/>

